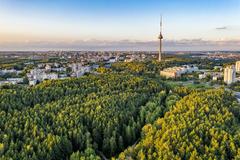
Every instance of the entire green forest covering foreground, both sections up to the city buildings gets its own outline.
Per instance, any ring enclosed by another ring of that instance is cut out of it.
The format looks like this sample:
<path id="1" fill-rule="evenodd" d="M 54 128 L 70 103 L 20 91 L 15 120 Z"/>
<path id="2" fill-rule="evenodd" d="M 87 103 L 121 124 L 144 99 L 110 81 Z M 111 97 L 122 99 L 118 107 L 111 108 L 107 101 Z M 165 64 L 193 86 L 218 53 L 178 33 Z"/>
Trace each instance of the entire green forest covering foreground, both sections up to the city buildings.
<path id="1" fill-rule="evenodd" d="M 114 63 L 97 75 L 1 86 L 0 159 L 240 159 L 232 93 L 157 76 L 193 62 Z"/>

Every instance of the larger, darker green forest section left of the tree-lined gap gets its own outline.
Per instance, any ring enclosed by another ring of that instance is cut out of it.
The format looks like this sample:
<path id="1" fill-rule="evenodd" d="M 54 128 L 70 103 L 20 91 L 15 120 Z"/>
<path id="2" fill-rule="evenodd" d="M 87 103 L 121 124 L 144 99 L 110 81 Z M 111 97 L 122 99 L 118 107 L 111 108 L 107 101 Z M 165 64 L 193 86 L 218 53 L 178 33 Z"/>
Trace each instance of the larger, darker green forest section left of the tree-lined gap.
<path id="1" fill-rule="evenodd" d="M 88 75 L 4 86 L 0 93 L 2 159 L 115 156 L 146 123 L 179 100 L 163 82 L 128 74 Z"/>

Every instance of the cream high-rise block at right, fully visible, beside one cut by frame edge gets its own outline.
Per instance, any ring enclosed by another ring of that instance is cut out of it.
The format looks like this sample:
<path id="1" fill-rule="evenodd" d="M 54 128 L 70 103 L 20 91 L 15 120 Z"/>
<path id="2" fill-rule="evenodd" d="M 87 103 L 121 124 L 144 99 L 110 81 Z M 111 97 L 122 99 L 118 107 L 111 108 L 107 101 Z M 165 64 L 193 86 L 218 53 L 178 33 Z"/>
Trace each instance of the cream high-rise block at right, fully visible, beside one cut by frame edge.
<path id="1" fill-rule="evenodd" d="M 234 65 L 232 66 L 227 66 L 224 69 L 224 82 L 227 84 L 231 84 L 235 82 L 236 78 L 236 68 Z"/>

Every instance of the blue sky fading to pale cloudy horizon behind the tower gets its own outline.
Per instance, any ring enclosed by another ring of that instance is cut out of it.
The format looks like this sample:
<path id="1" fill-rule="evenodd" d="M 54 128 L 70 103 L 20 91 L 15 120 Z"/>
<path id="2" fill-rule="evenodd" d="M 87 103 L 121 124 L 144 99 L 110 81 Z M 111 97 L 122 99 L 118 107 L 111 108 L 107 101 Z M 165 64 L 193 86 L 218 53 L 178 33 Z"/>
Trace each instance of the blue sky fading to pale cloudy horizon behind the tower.
<path id="1" fill-rule="evenodd" d="M 240 49 L 240 0 L 0 0 L 0 50 L 155 50 L 160 14 L 165 50 Z"/>

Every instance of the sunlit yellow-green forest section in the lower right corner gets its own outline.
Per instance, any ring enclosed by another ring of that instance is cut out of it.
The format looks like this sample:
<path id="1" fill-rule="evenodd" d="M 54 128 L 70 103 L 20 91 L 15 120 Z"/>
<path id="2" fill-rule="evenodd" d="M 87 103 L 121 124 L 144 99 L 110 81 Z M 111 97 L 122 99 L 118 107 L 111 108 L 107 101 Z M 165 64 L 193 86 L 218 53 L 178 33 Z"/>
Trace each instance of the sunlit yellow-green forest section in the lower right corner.
<path id="1" fill-rule="evenodd" d="M 231 93 L 195 92 L 142 129 L 119 159 L 240 159 L 240 109 Z"/>

